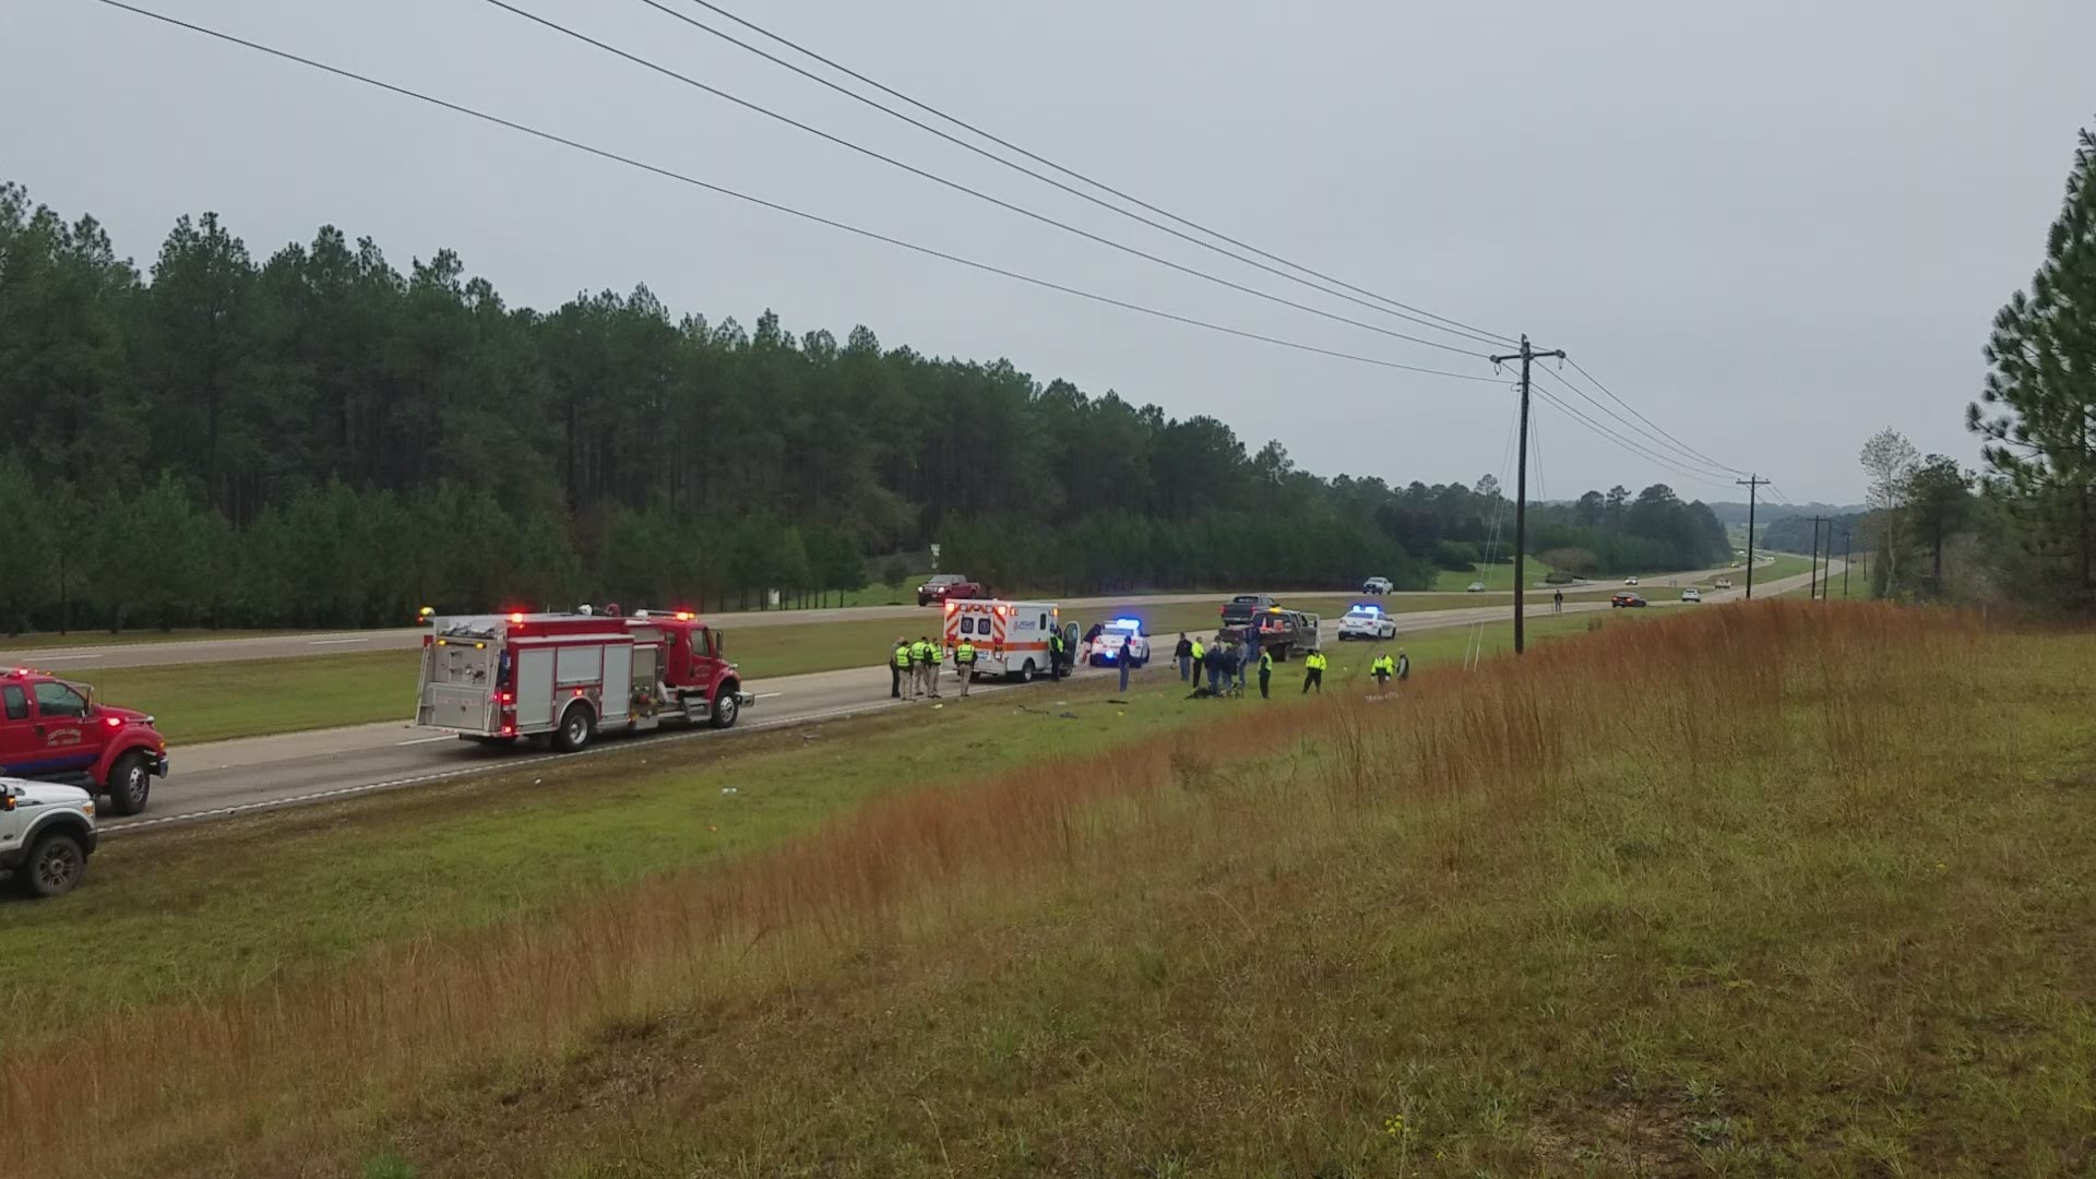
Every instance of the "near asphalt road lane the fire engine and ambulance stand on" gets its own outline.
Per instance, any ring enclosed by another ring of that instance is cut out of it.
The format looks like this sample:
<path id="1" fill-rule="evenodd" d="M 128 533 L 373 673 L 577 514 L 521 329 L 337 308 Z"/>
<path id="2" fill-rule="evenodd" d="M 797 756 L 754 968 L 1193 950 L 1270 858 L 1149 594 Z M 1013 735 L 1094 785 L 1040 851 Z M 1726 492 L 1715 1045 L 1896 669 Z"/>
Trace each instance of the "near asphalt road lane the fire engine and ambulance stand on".
<path id="1" fill-rule="evenodd" d="M 1836 573 L 1840 566 L 1836 564 Z M 1742 579 L 1744 581 L 1744 579 Z M 1805 585 L 1807 577 L 1777 579 L 1756 590 L 1777 594 Z M 1744 585 L 1729 592 L 1712 592 L 1710 602 L 1725 602 L 1744 596 Z M 1201 596 L 1197 600 L 1207 600 Z M 1673 604 L 1679 602 L 1656 602 Z M 1564 613 L 1608 610 L 1608 602 L 1566 602 Z M 834 610 L 832 610 L 834 613 Z M 1549 617 L 1549 596 L 1538 596 L 1528 606 L 1528 617 Z M 1455 627 L 1467 623 L 1497 623 L 1507 617 L 1507 606 L 1463 606 L 1450 610 L 1419 610 L 1394 615 L 1398 634 Z M 1329 621 L 1327 627 L 1337 627 Z M 413 631 L 409 631 L 413 634 Z M 1323 634 L 1323 642 L 1335 642 L 1335 634 Z M 249 640 L 233 640 L 249 642 Z M 1149 676 L 1157 676 L 1163 663 L 1153 665 Z M 1109 671 L 1079 671 L 1079 678 L 1109 676 Z M 365 724 L 352 728 L 329 728 L 314 732 L 291 732 L 281 736 L 254 736 L 243 741 L 218 741 L 210 745 L 187 745 L 170 751 L 174 774 L 153 785 L 153 801 L 138 818 L 111 818 L 103 822 L 105 833 L 151 831 L 178 822 L 199 822 L 275 810 L 285 806 L 342 799 L 390 789 L 407 789 L 465 774 L 486 774 L 497 770 L 522 770 L 553 762 L 572 762 L 620 747 L 660 747 L 664 757 L 675 757 L 690 741 L 729 741 L 738 732 L 761 732 L 794 724 L 811 724 L 843 715 L 859 715 L 891 707 L 931 707 L 926 703 L 897 703 L 889 699 L 887 667 L 861 667 L 849 671 L 817 671 L 811 676 L 784 676 L 755 684 L 757 705 L 742 713 L 742 722 L 725 732 L 715 730 L 664 730 L 646 736 L 606 736 L 591 751 L 530 753 L 516 749 L 484 749 L 455 736 L 432 734 L 407 726 Z M 956 684 L 941 684 L 947 707 L 958 703 Z M 977 684 L 975 696 L 998 696 L 1004 692 L 1029 692 L 1048 696 L 1052 684 Z M 1050 696 L 1052 699 L 1052 696 Z"/>

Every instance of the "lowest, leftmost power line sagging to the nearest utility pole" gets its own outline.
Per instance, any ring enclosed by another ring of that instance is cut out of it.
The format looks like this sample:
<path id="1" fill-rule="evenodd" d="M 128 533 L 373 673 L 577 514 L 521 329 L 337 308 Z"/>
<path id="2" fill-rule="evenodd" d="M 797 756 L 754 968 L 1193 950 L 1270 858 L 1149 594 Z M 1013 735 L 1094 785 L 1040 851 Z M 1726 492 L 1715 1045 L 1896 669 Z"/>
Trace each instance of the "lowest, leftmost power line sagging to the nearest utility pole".
<path id="1" fill-rule="evenodd" d="M 247 50 L 254 50 L 254 52 L 262 52 L 262 55 L 268 55 L 268 57 L 281 59 L 281 61 L 304 65 L 308 69 L 319 69 L 323 73 L 333 73 L 335 78 L 344 78 L 344 80 L 350 80 L 350 82 L 361 82 L 365 86 L 371 86 L 371 88 L 377 88 L 377 90 L 386 90 L 386 92 L 398 94 L 402 99 L 415 99 L 417 103 L 428 103 L 432 107 L 442 107 L 446 111 L 453 111 L 453 113 L 459 113 L 459 115 L 467 115 L 467 117 L 474 117 L 474 120 L 480 120 L 480 122 L 486 122 L 486 124 L 495 124 L 499 128 L 507 128 L 507 130 L 514 130 L 514 132 L 520 132 L 520 134 L 528 134 L 528 136 L 545 141 L 545 143 L 555 143 L 555 145 L 566 147 L 570 151 L 581 151 L 581 153 L 587 153 L 587 155 L 595 155 L 599 159 L 610 159 L 614 164 L 625 164 L 627 168 L 639 168 L 641 172 L 650 172 L 650 174 L 662 176 L 667 180 L 677 180 L 681 185 L 692 185 L 694 189 L 704 189 L 708 193 L 717 193 L 717 195 L 723 195 L 723 197 L 734 197 L 738 201 L 744 201 L 744 203 L 750 203 L 750 206 L 757 206 L 757 208 L 765 208 L 765 210 L 780 212 L 780 214 L 786 214 L 786 216 L 794 216 L 794 218 L 801 218 L 801 220 L 807 220 L 807 222 L 813 222 L 813 224 L 822 224 L 822 227 L 828 227 L 828 229 L 851 233 L 851 235 L 864 237 L 868 241 L 880 241 L 885 245 L 895 245 L 899 250 L 910 250 L 910 252 L 922 254 L 926 258 L 939 258 L 943 262 L 954 262 L 958 266 L 968 266 L 973 271 L 981 271 L 981 273 L 987 273 L 987 275 L 998 275 L 998 277 L 1012 279 L 1012 281 L 1027 283 L 1027 285 L 1035 285 L 1035 287 L 1042 287 L 1042 290 L 1061 292 L 1061 294 L 1084 298 L 1084 300 L 1098 302 L 1098 304 L 1105 304 L 1105 306 L 1117 306 L 1121 310 L 1134 310 L 1134 313 L 1140 313 L 1140 315 L 1151 315 L 1151 317 L 1157 317 L 1157 319 L 1167 319 L 1172 323 L 1184 323 L 1188 327 L 1203 327 L 1207 331 L 1218 331 L 1218 334 L 1224 334 L 1224 336 L 1237 336 L 1237 338 L 1243 338 L 1243 340 L 1258 340 L 1262 344 L 1274 344 L 1274 346 L 1281 346 L 1281 348 L 1295 348 L 1300 352 L 1314 352 L 1314 355 L 1320 355 L 1320 357 L 1333 357 L 1333 359 L 1354 361 L 1354 363 L 1360 363 L 1360 365 L 1375 365 L 1375 367 L 1383 367 L 1383 369 L 1398 369 L 1398 371 L 1411 371 L 1411 373 L 1440 376 L 1440 378 L 1450 378 L 1450 380 L 1471 380 L 1471 382 L 1501 384 L 1501 378 L 1497 378 L 1497 376 L 1453 373 L 1453 371 L 1444 371 L 1444 369 L 1427 369 L 1427 367 L 1419 367 L 1419 365 L 1402 365 L 1402 363 L 1383 361 L 1383 359 L 1377 359 L 1377 357 L 1360 357 L 1360 355 L 1341 352 L 1341 350 L 1335 350 L 1335 348 L 1318 348 L 1314 344 L 1302 344 L 1297 340 L 1283 340 L 1279 336 L 1264 336 L 1264 334 L 1258 334 L 1258 331 L 1245 331 L 1241 327 L 1226 327 L 1222 323 L 1209 323 L 1205 319 L 1195 319 L 1195 317 L 1188 317 L 1188 315 L 1176 315 L 1176 313 L 1161 310 L 1161 308 L 1155 308 L 1155 306 L 1147 306 L 1147 304 L 1138 304 L 1138 302 L 1128 302 L 1128 300 L 1102 296 L 1102 294 L 1088 292 L 1088 290 L 1082 290 L 1082 287 L 1063 285 L 1063 283 L 1056 283 L 1056 281 L 1050 281 L 1050 279 L 1038 279 L 1033 275 L 1025 275 L 1025 273 L 1019 273 L 1019 271 L 1008 271 L 1004 266 L 996 266 L 996 264 L 989 264 L 989 262 L 979 262 L 975 258 L 964 258 L 960 254 L 949 254 L 945 250 L 935 250 L 931 245 L 918 245 L 914 241 L 903 241 L 901 237 L 889 237 L 887 233 L 878 233 L 878 231 L 872 231 L 872 229 L 861 229 L 857 224 L 834 220 L 834 218 L 828 218 L 828 216 L 822 216 L 822 214 L 811 214 L 811 212 L 805 212 L 805 210 L 796 210 L 792 206 L 784 206 L 784 203 L 769 201 L 769 199 L 763 199 L 763 197 L 752 197 L 748 193 L 740 193 L 740 191 L 723 187 L 723 185 L 700 180 L 696 176 L 687 176 L 683 172 L 675 172 L 675 170 L 658 166 L 658 164 L 648 164 L 648 162 L 635 159 L 631 155 L 620 155 L 616 151 L 593 147 L 593 145 L 587 145 L 587 143 L 581 143 L 581 141 L 574 141 L 574 138 L 549 132 L 549 130 L 541 130 L 541 128 L 528 126 L 528 124 L 520 124 L 516 120 L 507 120 L 507 117 L 501 117 L 501 115 L 493 115 L 488 111 L 480 111 L 480 109 L 474 109 L 474 107 L 467 107 L 467 105 L 461 105 L 461 103 L 453 103 L 449 99 L 438 99 L 438 97 L 425 94 L 421 90 L 413 90 L 413 88 L 407 88 L 407 86 L 396 86 L 392 82 L 381 82 L 377 78 L 371 78 L 371 76 L 365 76 L 365 73 L 356 73 L 352 69 L 344 69 L 344 67 L 337 67 L 337 65 L 327 65 L 325 61 L 314 61 L 310 57 L 300 57 L 296 52 L 289 52 L 289 50 L 283 50 L 283 48 L 275 48 L 275 46 L 266 46 L 262 42 L 254 42 L 254 40 L 247 40 L 247 38 L 239 38 L 235 34 L 226 34 L 226 31 L 220 31 L 220 29 L 212 29 L 212 27 L 205 27 L 205 25 L 182 21 L 182 19 L 170 17 L 166 13 L 155 13 L 151 8 L 140 8 L 140 6 L 128 4 L 124 0 L 96 0 L 96 2 L 105 4 L 109 8 L 119 8 L 124 13 L 132 13 L 136 17 L 147 17 L 147 19 L 159 21 L 163 25 L 172 25 L 172 27 L 187 29 L 187 31 L 193 31 L 193 34 L 199 34 L 199 36 L 208 36 L 208 38 L 218 40 L 218 42 L 235 44 L 235 46 L 241 46 L 241 48 L 247 48 Z"/>

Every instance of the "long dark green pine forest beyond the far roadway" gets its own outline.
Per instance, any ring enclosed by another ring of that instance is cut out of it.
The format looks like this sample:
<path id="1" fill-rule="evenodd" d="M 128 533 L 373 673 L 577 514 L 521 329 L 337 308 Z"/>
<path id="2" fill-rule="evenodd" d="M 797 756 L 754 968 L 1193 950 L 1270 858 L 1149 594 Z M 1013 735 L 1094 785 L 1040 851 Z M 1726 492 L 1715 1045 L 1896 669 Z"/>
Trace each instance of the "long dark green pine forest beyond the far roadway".
<path id="1" fill-rule="evenodd" d="M 1214 417 L 646 285 L 509 306 L 449 250 L 400 271 L 335 227 L 258 258 L 182 216 L 140 271 L 19 185 L 0 422 L 10 634 L 820 600 L 929 543 L 1008 590 L 1425 587 L 1511 520 L 1492 476 L 1323 478 Z M 1700 506 L 1658 499 L 1553 539 L 1702 562 Z"/>

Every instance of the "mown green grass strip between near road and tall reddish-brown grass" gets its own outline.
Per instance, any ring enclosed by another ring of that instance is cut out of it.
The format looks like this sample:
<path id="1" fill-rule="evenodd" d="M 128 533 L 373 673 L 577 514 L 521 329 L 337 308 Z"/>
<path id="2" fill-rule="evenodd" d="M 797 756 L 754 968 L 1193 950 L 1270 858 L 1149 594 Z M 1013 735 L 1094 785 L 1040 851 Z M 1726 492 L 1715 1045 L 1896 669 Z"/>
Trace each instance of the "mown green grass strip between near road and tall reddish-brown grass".
<path id="1" fill-rule="evenodd" d="M 1587 619 L 1551 619 L 1532 621 L 1528 634 L 1547 642 L 1589 629 Z M 1364 678 L 1377 646 L 1333 650 L 1335 694 Z M 1423 631 L 1390 646 L 1425 673 L 1457 667 L 1478 648 L 1484 657 L 1511 650 L 1511 625 Z M 1274 686 L 1266 707 L 1302 703 L 1302 667 L 1276 667 Z M 90 885 L 71 898 L 0 902 L 0 994 L 78 1015 L 277 978 L 375 942 L 486 925 L 576 892 L 776 843 L 887 791 L 1151 741 L 1218 707 L 1262 707 L 1256 699 L 1186 701 L 1163 663 L 1138 673 L 1126 707 L 1102 705 L 1113 688 L 1098 678 L 947 701 L 811 730 L 813 741 L 792 730 L 637 745 L 570 768 L 541 764 L 516 778 L 243 824 L 266 829 L 266 839 L 243 839 L 243 827 L 231 824 L 113 837 L 94 858 Z M 1056 715 L 1061 701 L 1075 722 Z M 534 778 L 545 785 L 530 787 Z M 738 793 L 721 795 L 727 785 Z M 239 854 L 226 854 L 228 841 Z"/>

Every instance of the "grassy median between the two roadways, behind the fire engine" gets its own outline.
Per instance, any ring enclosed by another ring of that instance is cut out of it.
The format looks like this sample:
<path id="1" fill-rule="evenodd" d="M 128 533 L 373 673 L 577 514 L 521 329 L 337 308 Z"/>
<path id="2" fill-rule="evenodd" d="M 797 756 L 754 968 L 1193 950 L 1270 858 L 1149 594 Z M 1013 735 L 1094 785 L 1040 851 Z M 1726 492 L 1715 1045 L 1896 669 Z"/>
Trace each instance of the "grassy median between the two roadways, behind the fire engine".
<path id="1" fill-rule="evenodd" d="M 1606 600 L 1606 592 L 1566 594 L 1566 600 Z M 1304 598 L 1291 606 L 1337 617 L 1352 598 Z M 1411 596 L 1388 598 L 1392 613 L 1482 606 L 1478 598 Z M 1211 631 L 1220 604 L 1149 604 L 1130 600 L 1126 608 L 1092 608 L 1082 617 L 1109 619 L 1132 613 L 1170 644 L 1180 629 Z M 727 652 L 742 663 L 757 690 L 763 680 L 807 671 L 874 669 L 897 636 L 916 638 L 939 625 L 937 610 L 908 621 L 843 621 L 807 625 L 729 625 Z M 386 720 L 407 722 L 415 711 L 415 665 L 419 650 L 361 655 L 319 655 L 310 659 L 256 659 L 239 663 L 180 663 L 163 667 L 111 667 L 105 671 L 61 671 L 94 686 L 96 699 L 151 711 L 168 741 L 195 745 L 235 736 L 266 736 Z"/>

